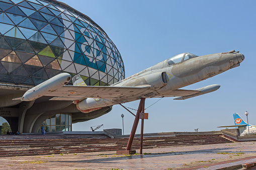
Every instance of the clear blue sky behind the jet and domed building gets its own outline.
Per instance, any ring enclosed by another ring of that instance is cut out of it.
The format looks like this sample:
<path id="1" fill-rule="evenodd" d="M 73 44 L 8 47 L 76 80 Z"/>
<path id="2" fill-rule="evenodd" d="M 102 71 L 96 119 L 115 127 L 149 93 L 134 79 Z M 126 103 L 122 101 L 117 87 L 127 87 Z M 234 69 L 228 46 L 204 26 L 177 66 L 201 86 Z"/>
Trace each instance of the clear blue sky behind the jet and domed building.
<path id="1" fill-rule="evenodd" d="M 219 90 L 183 101 L 164 98 L 146 109 L 145 133 L 219 130 L 217 126 L 234 124 L 235 112 L 246 119 L 246 110 L 249 123 L 256 124 L 255 1 L 62 2 L 105 30 L 122 55 L 126 77 L 184 52 L 206 55 L 236 50 L 245 55 L 240 67 L 185 88 L 219 84 Z M 146 107 L 155 101 L 146 99 Z M 138 103 L 124 105 L 137 109 Z M 73 131 L 89 131 L 100 124 L 105 129 L 122 128 L 122 113 L 125 134 L 129 134 L 134 116 L 121 106 L 113 106 L 97 119 L 73 124 Z"/>

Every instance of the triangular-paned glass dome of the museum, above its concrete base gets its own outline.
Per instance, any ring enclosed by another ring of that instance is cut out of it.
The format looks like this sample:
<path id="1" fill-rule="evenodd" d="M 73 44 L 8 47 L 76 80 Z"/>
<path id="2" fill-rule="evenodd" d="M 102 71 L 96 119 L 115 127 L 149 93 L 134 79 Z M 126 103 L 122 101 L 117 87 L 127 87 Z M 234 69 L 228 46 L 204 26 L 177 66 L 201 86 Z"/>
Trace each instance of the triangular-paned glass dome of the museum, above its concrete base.
<path id="1" fill-rule="evenodd" d="M 108 86 L 125 77 L 103 29 L 64 3 L 0 0 L 0 33 L 0 82 L 35 86 L 67 72 Z"/>

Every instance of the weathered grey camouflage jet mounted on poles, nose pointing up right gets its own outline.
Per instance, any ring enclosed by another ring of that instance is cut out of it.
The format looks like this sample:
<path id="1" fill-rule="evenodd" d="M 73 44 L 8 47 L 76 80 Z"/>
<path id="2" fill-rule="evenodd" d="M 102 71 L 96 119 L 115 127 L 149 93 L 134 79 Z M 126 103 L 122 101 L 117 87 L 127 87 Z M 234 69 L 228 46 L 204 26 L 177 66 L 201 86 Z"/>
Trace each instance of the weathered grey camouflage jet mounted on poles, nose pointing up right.
<path id="1" fill-rule="evenodd" d="M 84 113 L 141 98 L 175 97 L 175 100 L 184 100 L 213 92 L 220 85 L 195 90 L 180 88 L 235 68 L 243 60 L 244 55 L 234 50 L 204 56 L 182 53 L 111 86 L 87 86 L 79 75 L 73 77 L 73 86 L 68 86 L 70 75 L 61 73 L 13 100 L 32 101 L 41 96 L 52 96 L 50 100 L 73 101 Z"/>

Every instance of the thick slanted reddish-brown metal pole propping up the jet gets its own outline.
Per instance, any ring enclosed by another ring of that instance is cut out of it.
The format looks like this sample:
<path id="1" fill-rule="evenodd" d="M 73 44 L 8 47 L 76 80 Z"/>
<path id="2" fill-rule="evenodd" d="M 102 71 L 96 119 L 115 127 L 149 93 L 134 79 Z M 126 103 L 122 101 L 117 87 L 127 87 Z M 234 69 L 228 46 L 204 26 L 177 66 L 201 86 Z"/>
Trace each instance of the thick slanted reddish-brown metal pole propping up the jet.
<path id="1" fill-rule="evenodd" d="M 139 107 L 138 107 L 138 110 L 137 110 L 137 114 L 135 116 L 134 123 L 133 123 L 133 126 L 132 126 L 132 131 L 131 131 L 131 134 L 130 134 L 130 137 L 129 137 L 129 140 L 128 140 L 128 143 L 127 143 L 126 150 L 131 150 L 132 141 L 133 141 L 133 138 L 134 138 L 134 135 L 135 135 L 138 123 L 139 123 L 139 115 L 140 115 L 140 112 L 142 111 L 142 108 L 143 108 L 143 112 L 144 112 L 144 106 L 145 106 L 145 98 L 141 98 L 140 103 L 139 103 Z M 143 133 L 143 129 L 142 129 L 142 133 Z"/>

